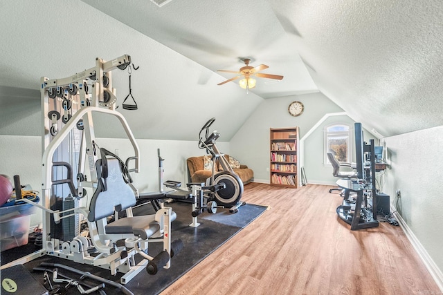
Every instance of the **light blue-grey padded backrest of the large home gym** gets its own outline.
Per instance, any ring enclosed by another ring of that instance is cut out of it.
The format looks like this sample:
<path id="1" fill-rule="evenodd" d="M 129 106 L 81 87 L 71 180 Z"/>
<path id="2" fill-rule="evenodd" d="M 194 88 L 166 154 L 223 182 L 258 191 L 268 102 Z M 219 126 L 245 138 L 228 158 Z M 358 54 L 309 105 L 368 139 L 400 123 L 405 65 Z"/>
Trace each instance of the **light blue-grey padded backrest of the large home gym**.
<path id="1" fill-rule="evenodd" d="M 102 159 L 97 160 L 98 187 L 89 205 L 88 220 L 93 222 L 111 216 L 136 204 L 136 196 L 125 182 L 116 158 L 107 158 L 107 178 L 102 177 Z M 106 173 L 105 173 L 106 174 Z"/>

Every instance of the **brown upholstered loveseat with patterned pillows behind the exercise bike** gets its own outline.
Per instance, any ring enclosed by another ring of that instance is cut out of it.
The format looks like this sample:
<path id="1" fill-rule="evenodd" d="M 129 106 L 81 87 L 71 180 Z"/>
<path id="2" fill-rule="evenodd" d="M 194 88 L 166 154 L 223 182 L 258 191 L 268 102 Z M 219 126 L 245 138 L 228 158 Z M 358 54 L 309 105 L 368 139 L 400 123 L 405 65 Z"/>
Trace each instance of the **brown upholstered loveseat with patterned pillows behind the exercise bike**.
<path id="1" fill-rule="evenodd" d="M 229 155 L 224 155 L 224 157 L 228 160 L 230 166 L 233 167 L 235 174 L 239 176 L 243 184 L 253 181 L 254 171 L 252 169 L 249 169 L 246 165 L 239 164 L 235 158 L 230 157 Z M 191 157 L 186 160 L 186 163 L 188 164 L 188 176 L 190 182 L 206 182 L 206 179 L 210 178 L 212 173 L 210 155 Z M 223 168 L 217 161 L 215 164 L 215 173 L 217 174 L 220 171 L 223 171 Z"/>

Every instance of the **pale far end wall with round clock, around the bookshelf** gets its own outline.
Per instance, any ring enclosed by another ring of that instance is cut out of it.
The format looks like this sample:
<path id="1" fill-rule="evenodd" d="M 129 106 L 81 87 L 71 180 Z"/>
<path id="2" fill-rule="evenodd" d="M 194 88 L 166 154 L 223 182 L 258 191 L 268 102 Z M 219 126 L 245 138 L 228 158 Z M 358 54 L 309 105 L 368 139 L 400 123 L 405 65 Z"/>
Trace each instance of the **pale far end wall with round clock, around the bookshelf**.
<path id="1" fill-rule="evenodd" d="M 305 112 L 292 117 L 288 106 L 296 100 L 304 104 Z M 269 129 L 298 126 L 302 137 L 326 113 L 341 111 L 323 93 L 265 99 L 230 140 L 230 154 L 253 169 L 256 182 L 269 183 Z M 305 152 L 308 155 L 318 157 L 311 151 Z"/>

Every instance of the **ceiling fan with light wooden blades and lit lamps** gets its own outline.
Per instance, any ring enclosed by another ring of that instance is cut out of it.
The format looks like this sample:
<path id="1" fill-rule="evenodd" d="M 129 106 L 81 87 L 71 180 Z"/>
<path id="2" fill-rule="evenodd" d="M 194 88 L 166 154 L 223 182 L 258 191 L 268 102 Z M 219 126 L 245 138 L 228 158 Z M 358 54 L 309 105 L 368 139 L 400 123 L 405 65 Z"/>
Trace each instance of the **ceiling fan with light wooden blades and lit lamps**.
<path id="1" fill-rule="evenodd" d="M 217 85 L 223 85 L 225 83 L 228 83 L 228 82 L 231 82 L 231 81 L 234 81 L 236 79 L 243 77 L 243 79 L 241 79 L 239 81 L 239 86 L 247 90 L 247 89 L 251 89 L 251 88 L 255 87 L 255 79 L 253 79 L 252 76 L 260 77 L 260 78 L 267 78 L 267 79 L 277 79 L 277 80 L 283 79 L 283 76 L 280 76 L 280 75 L 259 73 L 261 70 L 269 68 L 269 66 L 266 66 L 265 64 L 260 64 L 260 66 L 256 66 L 254 68 L 253 66 L 249 66 L 251 59 L 246 58 L 246 59 L 243 59 L 243 61 L 246 66 L 243 66 L 237 72 L 235 70 L 217 70 L 217 72 L 240 74 L 240 75 L 237 75 L 236 77 L 230 78 L 230 79 L 228 79 L 224 82 L 221 82 Z"/>

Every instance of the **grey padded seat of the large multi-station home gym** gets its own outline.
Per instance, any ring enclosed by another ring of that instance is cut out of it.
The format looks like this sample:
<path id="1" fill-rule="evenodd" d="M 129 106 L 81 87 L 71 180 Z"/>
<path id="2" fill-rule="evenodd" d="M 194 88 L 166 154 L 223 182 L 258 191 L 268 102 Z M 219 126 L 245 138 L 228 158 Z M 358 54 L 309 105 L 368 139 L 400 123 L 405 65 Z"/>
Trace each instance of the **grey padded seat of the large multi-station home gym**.
<path id="1" fill-rule="evenodd" d="M 177 218 L 177 213 L 172 211 L 170 216 L 171 222 Z M 120 218 L 109 223 L 105 227 L 107 234 L 134 234 L 143 240 L 150 238 L 160 230 L 159 222 L 156 222 L 155 215 L 142 215 Z"/>

